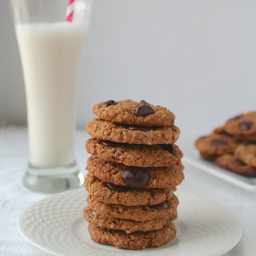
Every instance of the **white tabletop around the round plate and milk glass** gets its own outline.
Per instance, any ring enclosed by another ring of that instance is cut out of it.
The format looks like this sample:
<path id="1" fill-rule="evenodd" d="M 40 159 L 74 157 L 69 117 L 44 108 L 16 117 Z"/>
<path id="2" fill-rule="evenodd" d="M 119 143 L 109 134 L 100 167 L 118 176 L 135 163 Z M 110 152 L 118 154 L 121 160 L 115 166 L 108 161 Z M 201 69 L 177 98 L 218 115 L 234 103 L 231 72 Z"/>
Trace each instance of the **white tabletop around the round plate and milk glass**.
<path id="1" fill-rule="evenodd" d="M 86 166 L 88 157 L 84 150 L 87 138 L 84 131 L 77 131 L 76 157 L 81 169 Z M 177 144 L 184 148 L 186 141 L 181 139 L 179 142 Z M 23 209 L 49 196 L 23 187 L 22 177 L 27 159 L 26 128 L 9 127 L 0 130 L 0 256 L 47 256 L 27 243 L 16 227 Z M 188 164 L 185 164 L 185 180 L 178 189 L 219 202 L 240 219 L 243 225 L 242 239 L 225 256 L 256 256 L 256 194 L 239 189 Z"/>

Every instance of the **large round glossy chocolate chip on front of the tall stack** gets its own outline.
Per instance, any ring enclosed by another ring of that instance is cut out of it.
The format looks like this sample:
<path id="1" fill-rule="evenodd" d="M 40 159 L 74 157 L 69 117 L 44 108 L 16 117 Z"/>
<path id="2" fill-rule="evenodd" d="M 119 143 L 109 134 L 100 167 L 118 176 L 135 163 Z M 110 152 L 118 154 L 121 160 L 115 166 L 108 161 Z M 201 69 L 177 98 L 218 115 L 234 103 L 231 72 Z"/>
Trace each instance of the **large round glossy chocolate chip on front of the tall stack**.
<path id="1" fill-rule="evenodd" d="M 126 166 L 123 169 L 123 181 L 129 187 L 141 188 L 149 181 L 149 172 L 146 168 Z"/>

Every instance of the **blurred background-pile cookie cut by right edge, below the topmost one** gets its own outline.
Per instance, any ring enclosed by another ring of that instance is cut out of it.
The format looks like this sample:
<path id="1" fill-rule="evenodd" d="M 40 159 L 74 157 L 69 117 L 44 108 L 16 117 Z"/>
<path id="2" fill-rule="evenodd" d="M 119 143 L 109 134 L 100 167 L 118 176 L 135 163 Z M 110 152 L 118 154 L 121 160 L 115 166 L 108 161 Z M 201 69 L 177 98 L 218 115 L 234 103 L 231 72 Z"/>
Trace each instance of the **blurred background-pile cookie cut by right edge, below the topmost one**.
<path id="1" fill-rule="evenodd" d="M 249 166 L 256 167 L 256 145 L 240 144 L 235 150 L 235 157 Z"/>

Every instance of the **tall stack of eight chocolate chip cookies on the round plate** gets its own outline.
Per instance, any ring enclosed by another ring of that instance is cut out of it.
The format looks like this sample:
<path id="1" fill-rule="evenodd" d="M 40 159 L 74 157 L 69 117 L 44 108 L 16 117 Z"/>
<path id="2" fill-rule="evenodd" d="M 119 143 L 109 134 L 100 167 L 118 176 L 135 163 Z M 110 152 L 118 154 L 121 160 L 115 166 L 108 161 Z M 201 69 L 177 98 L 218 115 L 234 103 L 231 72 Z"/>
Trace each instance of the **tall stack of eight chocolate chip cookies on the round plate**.
<path id="1" fill-rule="evenodd" d="M 91 238 L 119 248 L 158 247 L 176 229 L 176 186 L 184 179 L 180 130 L 175 115 L 145 101 L 106 101 L 86 131 L 88 206 L 84 217 Z"/>

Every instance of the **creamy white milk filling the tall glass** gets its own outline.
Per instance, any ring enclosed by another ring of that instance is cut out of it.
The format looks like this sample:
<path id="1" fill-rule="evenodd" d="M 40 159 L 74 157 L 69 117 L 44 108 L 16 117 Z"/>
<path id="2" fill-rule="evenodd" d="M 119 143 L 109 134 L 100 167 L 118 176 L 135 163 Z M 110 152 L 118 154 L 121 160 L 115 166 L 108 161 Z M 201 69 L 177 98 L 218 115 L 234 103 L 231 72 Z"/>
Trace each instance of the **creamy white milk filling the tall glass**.
<path id="1" fill-rule="evenodd" d="M 17 25 L 25 79 L 30 163 L 74 160 L 75 98 L 85 30 L 72 22 Z M 17 141 L 18 143 L 18 141 Z"/>

